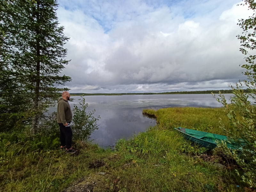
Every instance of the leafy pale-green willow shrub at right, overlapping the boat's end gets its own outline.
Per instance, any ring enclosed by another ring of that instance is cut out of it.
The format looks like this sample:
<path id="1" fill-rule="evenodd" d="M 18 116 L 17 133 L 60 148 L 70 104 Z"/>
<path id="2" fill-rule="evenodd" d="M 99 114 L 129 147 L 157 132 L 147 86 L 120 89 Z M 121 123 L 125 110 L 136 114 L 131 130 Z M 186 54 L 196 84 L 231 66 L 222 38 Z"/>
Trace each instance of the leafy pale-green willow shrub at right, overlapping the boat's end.
<path id="1" fill-rule="evenodd" d="M 248 87 L 250 84 L 244 82 Z M 224 95 L 220 94 L 220 99 L 217 100 L 223 104 L 225 112 L 229 118 L 231 125 L 230 129 L 226 129 L 224 124 L 221 124 L 222 129 L 228 135 L 228 141 L 236 142 L 240 145 L 240 150 L 230 150 L 227 148 L 225 141 L 219 143 L 218 146 L 223 148 L 224 153 L 236 160 L 237 164 L 242 167 L 244 174 L 241 176 L 242 180 L 256 188 L 256 110 L 248 97 L 253 97 L 256 94 L 254 87 L 253 94 L 246 94 L 243 92 L 242 83 L 236 84 L 236 88 L 232 87 L 234 96 L 230 98 L 231 105 L 228 105 Z M 252 88 L 252 87 L 251 87 Z M 239 172 L 236 170 L 237 174 Z"/>

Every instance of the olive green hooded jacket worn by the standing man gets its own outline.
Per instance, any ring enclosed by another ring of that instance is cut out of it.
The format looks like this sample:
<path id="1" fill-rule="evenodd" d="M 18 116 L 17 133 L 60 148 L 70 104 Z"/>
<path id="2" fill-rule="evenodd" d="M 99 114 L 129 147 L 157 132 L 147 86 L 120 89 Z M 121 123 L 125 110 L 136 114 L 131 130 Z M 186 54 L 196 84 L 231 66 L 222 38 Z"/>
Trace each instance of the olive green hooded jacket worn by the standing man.
<path id="1" fill-rule="evenodd" d="M 57 105 L 57 123 L 66 124 L 72 121 L 72 111 L 67 100 L 60 98 Z"/>

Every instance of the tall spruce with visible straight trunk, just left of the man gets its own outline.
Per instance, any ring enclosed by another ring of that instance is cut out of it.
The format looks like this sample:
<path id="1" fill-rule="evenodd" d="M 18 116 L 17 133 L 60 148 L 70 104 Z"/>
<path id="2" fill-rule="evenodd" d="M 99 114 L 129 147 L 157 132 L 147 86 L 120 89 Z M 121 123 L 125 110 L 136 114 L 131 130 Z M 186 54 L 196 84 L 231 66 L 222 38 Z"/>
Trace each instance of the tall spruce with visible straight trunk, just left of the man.
<path id="1" fill-rule="evenodd" d="M 68 76 L 59 75 L 69 62 L 63 59 L 67 54 L 63 45 L 68 37 L 63 35 L 64 28 L 58 26 L 56 0 L 31 1 L 25 5 L 27 20 L 25 30 L 20 34 L 19 47 L 23 53 L 21 62 L 28 70 L 26 88 L 30 88 L 33 100 L 32 132 L 35 134 L 38 115 L 55 105 L 58 92 L 68 90 L 56 87 L 71 80 Z"/>

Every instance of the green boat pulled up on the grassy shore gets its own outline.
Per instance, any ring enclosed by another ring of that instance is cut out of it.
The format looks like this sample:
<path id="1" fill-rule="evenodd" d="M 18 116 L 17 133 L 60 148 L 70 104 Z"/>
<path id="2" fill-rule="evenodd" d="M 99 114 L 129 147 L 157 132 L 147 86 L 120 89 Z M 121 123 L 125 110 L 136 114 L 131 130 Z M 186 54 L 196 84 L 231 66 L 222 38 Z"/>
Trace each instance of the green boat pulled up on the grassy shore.
<path id="1" fill-rule="evenodd" d="M 176 129 L 176 128 L 174 128 L 174 129 Z M 196 131 L 196 130 L 186 129 L 186 128 L 182 128 L 182 127 L 179 127 L 176 130 L 181 132 L 186 139 L 196 143 L 197 145 L 200 145 L 201 147 L 207 148 L 207 149 L 213 149 L 213 148 L 217 147 L 216 140 L 218 140 L 218 141 L 226 140 L 227 141 L 227 137 L 224 135 L 217 135 L 217 134 L 213 134 L 213 133 Z M 235 142 L 231 142 L 231 143 L 227 142 L 227 147 L 230 149 L 236 149 L 236 150 L 241 148 L 241 146 Z"/>

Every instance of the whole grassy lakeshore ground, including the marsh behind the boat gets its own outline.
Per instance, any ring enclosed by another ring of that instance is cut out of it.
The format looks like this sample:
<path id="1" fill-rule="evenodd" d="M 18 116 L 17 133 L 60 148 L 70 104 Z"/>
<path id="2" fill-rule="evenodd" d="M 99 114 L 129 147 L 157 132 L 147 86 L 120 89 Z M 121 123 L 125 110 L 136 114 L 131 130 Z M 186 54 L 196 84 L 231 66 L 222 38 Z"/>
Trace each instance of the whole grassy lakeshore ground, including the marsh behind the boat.
<path id="1" fill-rule="evenodd" d="M 1 133 L 0 191 L 75 191 L 77 186 L 94 192 L 244 191 L 240 178 L 217 152 L 208 152 L 205 158 L 201 156 L 207 152 L 204 148 L 173 130 L 181 126 L 222 134 L 219 117 L 226 118 L 222 110 L 145 109 L 144 114 L 157 116 L 156 127 L 132 140 L 119 140 L 117 151 L 77 142 L 78 156 L 58 150 L 54 134 L 27 138 L 27 132 Z M 226 167 L 217 168 L 217 162 Z"/>

